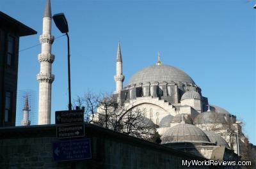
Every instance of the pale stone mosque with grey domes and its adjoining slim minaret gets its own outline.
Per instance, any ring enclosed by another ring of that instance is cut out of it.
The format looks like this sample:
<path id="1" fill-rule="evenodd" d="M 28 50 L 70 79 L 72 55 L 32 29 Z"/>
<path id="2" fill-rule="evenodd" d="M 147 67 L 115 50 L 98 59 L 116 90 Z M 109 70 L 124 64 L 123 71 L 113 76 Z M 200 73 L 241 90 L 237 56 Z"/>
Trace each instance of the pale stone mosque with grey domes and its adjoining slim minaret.
<path id="1" fill-rule="evenodd" d="M 126 110 L 144 110 L 143 115 L 157 126 L 163 145 L 207 159 L 234 160 L 248 144 L 236 115 L 210 105 L 193 79 L 179 68 L 163 64 L 159 52 L 156 64 L 135 73 L 123 87 L 118 43 L 114 78 L 116 101 L 124 103 Z M 256 154 L 255 146 L 251 148 Z"/>

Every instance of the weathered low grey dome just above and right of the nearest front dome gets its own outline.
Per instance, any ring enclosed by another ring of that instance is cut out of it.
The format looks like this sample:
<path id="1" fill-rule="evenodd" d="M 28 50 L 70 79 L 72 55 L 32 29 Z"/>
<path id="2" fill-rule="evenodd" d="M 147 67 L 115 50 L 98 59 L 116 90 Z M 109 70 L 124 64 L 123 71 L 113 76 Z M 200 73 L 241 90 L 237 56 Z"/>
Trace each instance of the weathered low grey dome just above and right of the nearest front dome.
<path id="1" fill-rule="evenodd" d="M 194 120 L 194 124 L 209 124 L 209 123 L 227 123 L 227 115 L 212 111 L 202 112 L 198 114 Z"/>

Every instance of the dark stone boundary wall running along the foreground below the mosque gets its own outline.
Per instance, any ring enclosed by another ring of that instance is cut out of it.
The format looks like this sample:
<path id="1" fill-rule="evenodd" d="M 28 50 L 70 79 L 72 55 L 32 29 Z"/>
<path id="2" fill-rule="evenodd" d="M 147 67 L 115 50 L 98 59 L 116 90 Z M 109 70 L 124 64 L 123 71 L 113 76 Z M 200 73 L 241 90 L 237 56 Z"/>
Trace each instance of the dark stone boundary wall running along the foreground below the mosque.
<path id="1" fill-rule="evenodd" d="M 85 131 L 86 137 L 92 140 L 92 159 L 57 163 L 52 158 L 52 142 L 56 142 L 55 125 L 1 128 L 0 168 L 164 169 L 184 168 L 182 159 L 204 160 L 92 124 L 86 124 Z"/>

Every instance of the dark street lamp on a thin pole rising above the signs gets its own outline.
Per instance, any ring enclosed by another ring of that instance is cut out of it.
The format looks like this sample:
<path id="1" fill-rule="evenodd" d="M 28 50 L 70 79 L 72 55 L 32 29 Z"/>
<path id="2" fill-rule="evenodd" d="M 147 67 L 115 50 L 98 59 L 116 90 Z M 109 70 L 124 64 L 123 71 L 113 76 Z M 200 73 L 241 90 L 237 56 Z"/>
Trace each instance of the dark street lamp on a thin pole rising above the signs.
<path id="1" fill-rule="evenodd" d="M 72 110 L 71 105 L 71 86 L 70 86 L 70 48 L 69 48 L 69 36 L 68 36 L 68 22 L 64 13 L 57 13 L 52 16 L 55 25 L 61 31 L 65 33 L 68 40 L 68 110 Z"/>

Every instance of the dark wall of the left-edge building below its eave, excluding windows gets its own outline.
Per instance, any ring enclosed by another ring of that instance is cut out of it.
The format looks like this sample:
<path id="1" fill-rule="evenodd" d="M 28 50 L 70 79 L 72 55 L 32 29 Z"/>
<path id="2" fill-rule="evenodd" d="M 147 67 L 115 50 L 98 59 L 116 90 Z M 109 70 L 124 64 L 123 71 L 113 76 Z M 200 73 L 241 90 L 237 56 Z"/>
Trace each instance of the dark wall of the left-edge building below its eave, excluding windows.
<path id="1" fill-rule="evenodd" d="M 7 64 L 9 37 L 13 41 L 12 64 Z M 15 126 L 17 78 L 19 62 L 19 36 L 12 27 L 0 26 L 0 126 Z M 6 92 L 10 92 L 10 112 L 4 114 L 6 105 Z M 5 119 L 6 117 L 6 119 Z"/>

